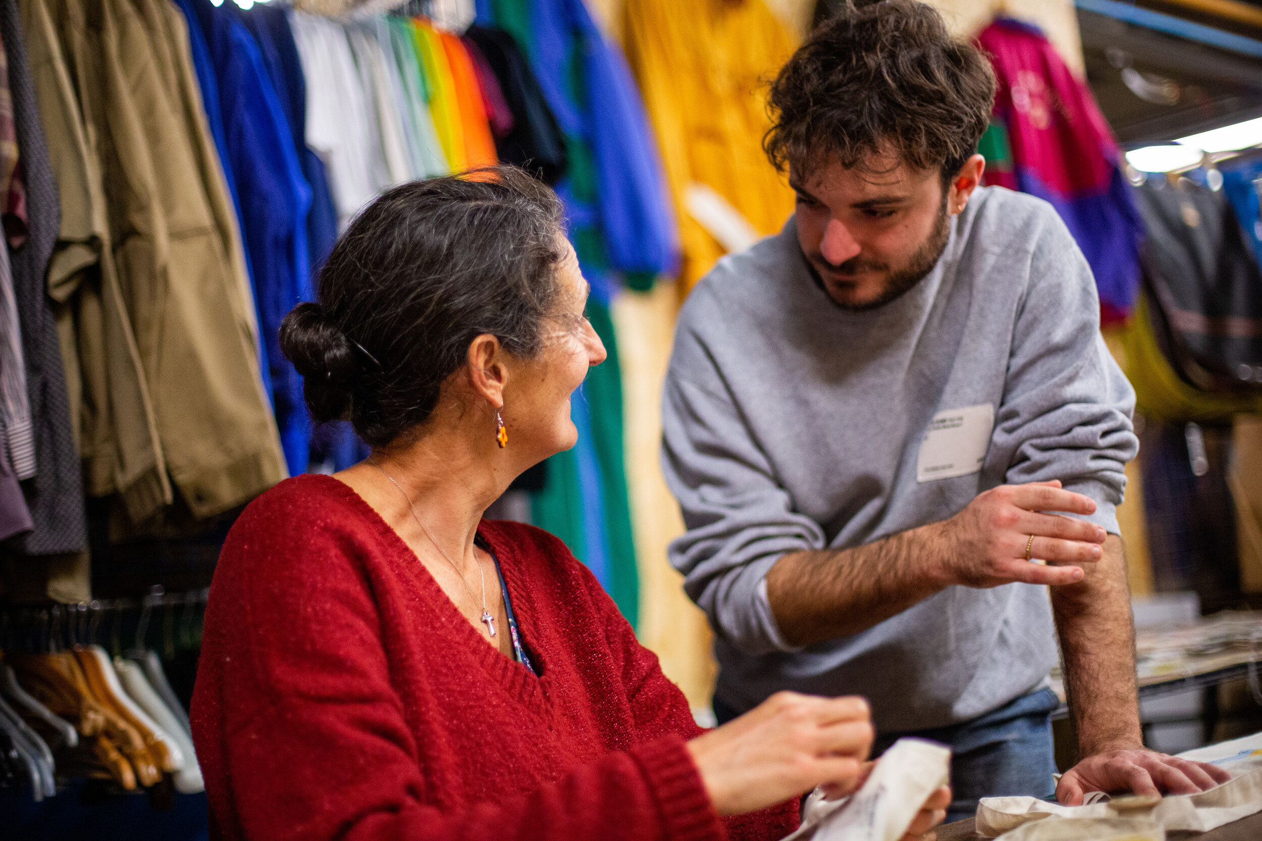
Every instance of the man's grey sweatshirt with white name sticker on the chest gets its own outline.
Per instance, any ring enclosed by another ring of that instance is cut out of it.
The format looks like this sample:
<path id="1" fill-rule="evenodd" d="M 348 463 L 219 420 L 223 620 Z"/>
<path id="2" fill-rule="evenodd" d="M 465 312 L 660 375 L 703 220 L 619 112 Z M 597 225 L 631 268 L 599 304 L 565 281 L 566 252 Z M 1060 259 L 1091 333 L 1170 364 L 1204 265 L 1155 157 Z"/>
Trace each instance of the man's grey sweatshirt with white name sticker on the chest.
<path id="1" fill-rule="evenodd" d="M 899 733 L 967 721 L 1046 680 L 1046 588 L 952 586 L 793 648 L 765 577 L 785 554 L 943 521 L 1005 483 L 1060 479 L 1116 533 L 1138 440 L 1098 306 L 1051 206 L 1002 188 L 978 189 L 929 276 L 876 310 L 833 304 L 793 219 L 719 261 L 680 313 L 663 450 L 688 527 L 670 561 L 716 630 L 717 697 L 747 710 L 785 688 L 859 693 L 877 729 Z"/>

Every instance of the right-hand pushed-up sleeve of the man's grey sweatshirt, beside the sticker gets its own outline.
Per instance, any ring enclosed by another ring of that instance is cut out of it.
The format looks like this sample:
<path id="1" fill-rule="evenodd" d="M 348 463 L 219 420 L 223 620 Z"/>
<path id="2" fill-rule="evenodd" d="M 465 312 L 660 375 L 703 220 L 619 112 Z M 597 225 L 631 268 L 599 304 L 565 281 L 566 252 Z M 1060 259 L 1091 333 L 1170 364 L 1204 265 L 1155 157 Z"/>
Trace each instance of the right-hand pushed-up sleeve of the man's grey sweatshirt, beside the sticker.
<path id="1" fill-rule="evenodd" d="M 1095 501 L 1085 519 L 1116 535 L 1126 463 L 1140 448 L 1135 391 L 1100 335 L 1085 257 L 1050 207 L 1039 224 L 987 461 L 1007 464 L 1010 484 L 1060 479 Z"/>

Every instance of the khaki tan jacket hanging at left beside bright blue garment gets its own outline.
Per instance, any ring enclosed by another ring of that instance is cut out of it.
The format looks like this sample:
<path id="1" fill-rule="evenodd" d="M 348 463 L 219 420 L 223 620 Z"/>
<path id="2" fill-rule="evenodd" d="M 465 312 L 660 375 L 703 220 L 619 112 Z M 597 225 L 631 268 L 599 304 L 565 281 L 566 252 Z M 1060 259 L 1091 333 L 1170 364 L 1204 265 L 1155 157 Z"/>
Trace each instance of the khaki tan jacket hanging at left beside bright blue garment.
<path id="1" fill-rule="evenodd" d="M 88 493 L 121 494 L 133 525 L 173 502 L 172 483 L 198 518 L 240 506 L 285 468 L 183 15 L 162 0 L 21 5 L 66 208 L 49 293 Z"/>

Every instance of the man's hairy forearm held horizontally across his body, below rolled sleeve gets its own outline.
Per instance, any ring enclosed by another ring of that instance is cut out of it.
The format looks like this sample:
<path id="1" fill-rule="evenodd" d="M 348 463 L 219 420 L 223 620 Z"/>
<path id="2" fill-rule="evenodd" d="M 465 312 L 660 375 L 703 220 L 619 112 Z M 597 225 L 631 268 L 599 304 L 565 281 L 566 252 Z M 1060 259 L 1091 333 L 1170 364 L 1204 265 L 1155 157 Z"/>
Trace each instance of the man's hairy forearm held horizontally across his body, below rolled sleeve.
<path id="1" fill-rule="evenodd" d="M 926 557 L 938 554 L 935 526 L 846 550 L 785 555 L 767 572 L 767 600 L 791 646 L 848 637 L 941 590 Z"/>

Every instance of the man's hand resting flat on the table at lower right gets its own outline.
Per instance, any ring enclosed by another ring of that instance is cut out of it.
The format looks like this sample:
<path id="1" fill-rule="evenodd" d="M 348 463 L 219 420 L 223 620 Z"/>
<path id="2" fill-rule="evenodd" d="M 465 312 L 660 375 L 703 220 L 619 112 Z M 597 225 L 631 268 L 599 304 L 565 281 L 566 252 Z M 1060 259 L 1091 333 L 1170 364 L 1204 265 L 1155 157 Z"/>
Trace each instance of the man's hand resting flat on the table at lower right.
<path id="1" fill-rule="evenodd" d="M 1109 750 L 1070 768 L 1056 786 L 1056 799 L 1065 806 L 1082 806 L 1087 792 L 1195 794 L 1230 778 L 1218 765 L 1167 757 L 1155 750 Z"/>

